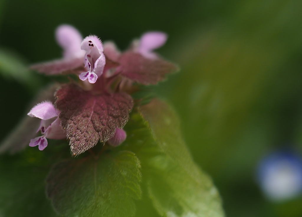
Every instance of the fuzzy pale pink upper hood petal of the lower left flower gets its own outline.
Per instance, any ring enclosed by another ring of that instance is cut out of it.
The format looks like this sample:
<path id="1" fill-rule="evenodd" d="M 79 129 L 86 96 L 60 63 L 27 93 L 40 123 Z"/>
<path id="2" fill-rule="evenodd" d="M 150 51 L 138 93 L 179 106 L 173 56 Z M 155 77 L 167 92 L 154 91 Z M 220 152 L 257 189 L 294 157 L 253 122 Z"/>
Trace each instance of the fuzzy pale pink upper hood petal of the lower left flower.
<path id="1" fill-rule="evenodd" d="M 53 104 L 46 101 L 34 106 L 27 115 L 31 117 L 37 117 L 42 120 L 48 120 L 58 116 L 58 113 Z"/>

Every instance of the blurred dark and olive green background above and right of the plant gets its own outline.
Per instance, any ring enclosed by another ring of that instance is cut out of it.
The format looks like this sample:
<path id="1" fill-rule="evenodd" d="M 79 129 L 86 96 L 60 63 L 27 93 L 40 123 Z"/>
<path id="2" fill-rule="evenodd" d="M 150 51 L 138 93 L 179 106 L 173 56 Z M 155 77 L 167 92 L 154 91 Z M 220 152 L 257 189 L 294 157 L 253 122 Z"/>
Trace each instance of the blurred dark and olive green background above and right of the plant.
<path id="1" fill-rule="evenodd" d="M 302 198 L 271 203 L 255 180 L 269 152 L 302 153 L 301 0 L 0 0 L 0 49 L 24 64 L 59 58 L 54 30 L 62 23 L 120 49 L 146 31 L 168 33 L 159 53 L 182 70 L 155 90 L 178 111 L 226 215 L 302 216 Z M 7 68 L 0 52 L 1 140 L 46 82 L 30 72 L 33 79 L 11 78 Z"/>

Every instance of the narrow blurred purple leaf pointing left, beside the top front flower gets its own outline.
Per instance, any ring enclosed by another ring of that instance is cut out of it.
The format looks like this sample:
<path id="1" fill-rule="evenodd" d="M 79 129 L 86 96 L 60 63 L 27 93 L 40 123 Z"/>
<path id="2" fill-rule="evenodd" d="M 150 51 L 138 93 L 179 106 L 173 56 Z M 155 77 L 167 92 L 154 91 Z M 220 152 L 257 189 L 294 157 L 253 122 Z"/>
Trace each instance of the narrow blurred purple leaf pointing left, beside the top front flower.
<path id="1" fill-rule="evenodd" d="M 85 71 L 84 56 L 72 59 L 57 59 L 50 62 L 42 62 L 30 66 L 30 69 L 37 70 L 47 75 L 70 74 Z"/>

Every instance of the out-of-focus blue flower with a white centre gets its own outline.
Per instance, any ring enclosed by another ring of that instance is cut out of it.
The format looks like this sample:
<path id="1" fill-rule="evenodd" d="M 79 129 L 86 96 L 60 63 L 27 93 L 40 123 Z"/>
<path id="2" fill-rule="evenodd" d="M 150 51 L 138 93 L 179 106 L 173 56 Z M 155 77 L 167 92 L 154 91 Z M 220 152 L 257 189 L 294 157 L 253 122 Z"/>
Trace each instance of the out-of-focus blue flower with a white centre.
<path id="1" fill-rule="evenodd" d="M 302 159 L 294 152 L 273 152 L 260 161 L 258 181 L 272 201 L 293 199 L 302 192 Z"/>

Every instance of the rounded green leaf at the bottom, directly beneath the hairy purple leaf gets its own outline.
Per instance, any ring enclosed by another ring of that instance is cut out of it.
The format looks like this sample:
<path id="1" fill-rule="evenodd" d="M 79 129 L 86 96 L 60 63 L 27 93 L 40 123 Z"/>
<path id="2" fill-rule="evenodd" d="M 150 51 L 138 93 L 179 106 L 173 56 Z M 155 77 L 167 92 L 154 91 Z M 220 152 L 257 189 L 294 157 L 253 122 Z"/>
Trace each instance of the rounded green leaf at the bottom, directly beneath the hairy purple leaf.
<path id="1" fill-rule="evenodd" d="M 109 151 L 56 164 L 47 178 L 47 195 L 63 216 L 127 217 L 139 199 L 140 161 L 129 151 Z"/>

